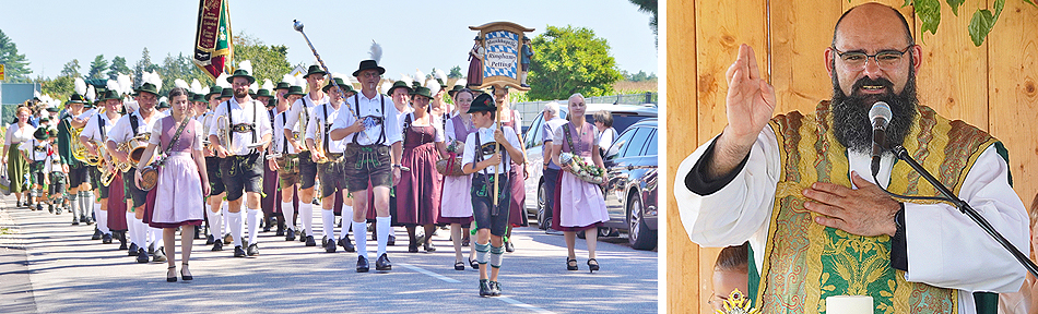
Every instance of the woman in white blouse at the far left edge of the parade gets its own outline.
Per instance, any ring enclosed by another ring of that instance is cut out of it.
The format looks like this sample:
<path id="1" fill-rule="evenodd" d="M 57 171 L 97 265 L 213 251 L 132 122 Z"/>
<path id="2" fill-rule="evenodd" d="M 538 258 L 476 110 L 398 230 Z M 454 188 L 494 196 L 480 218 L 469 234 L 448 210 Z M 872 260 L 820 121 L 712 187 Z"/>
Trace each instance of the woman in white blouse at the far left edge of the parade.
<path id="1" fill-rule="evenodd" d="M 11 180 L 11 193 L 14 193 L 15 207 L 28 206 L 28 182 L 25 174 L 28 173 L 28 161 L 22 157 L 22 150 L 17 145 L 22 142 L 33 138 L 33 132 L 36 128 L 28 123 L 28 117 L 32 110 L 28 107 L 19 107 L 16 110 L 17 122 L 8 126 L 8 132 L 3 136 L 3 162 L 8 165 L 8 180 Z M 25 202 L 22 202 L 22 198 Z"/>

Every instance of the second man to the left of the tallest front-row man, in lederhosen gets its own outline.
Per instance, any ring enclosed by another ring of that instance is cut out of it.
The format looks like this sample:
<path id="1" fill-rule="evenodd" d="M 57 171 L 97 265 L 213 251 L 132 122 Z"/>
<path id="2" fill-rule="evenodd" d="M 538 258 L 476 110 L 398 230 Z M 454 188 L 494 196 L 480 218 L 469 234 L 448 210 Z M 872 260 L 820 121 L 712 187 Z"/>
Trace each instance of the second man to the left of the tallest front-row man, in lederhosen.
<path id="1" fill-rule="evenodd" d="M 306 134 L 306 130 L 303 129 L 306 128 L 306 121 L 309 121 L 310 116 L 314 114 L 314 107 L 328 104 L 327 95 L 325 95 L 325 92 L 321 92 L 321 87 L 325 86 L 326 74 L 328 73 L 321 70 L 319 65 L 310 65 L 310 68 L 307 69 L 306 75 L 303 75 L 303 78 L 306 78 L 306 86 L 309 93 L 292 104 L 292 108 L 288 109 L 288 119 L 285 122 L 284 130 L 281 130 L 284 132 L 290 145 L 299 152 L 299 220 L 302 220 L 303 231 L 306 233 L 306 235 L 302 235 L 303 239 L 299 239 L 299 241 L 306 241 L 306 246 L 317 246 L 317 242 L 314 240 L 312 229 L 314 204 L 310 203 L 314 200 L 317 164 L 310 159 L 310 152 L 306 150 L 306 147 L 303 146 L 302 136 Z"/>

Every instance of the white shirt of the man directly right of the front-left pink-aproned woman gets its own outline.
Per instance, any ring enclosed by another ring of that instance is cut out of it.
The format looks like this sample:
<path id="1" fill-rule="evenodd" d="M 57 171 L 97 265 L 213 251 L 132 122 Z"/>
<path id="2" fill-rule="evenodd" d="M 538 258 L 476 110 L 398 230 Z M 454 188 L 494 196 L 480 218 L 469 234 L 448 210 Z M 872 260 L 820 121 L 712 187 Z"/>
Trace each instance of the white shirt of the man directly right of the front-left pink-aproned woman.
<path id="1" fill-rule="evenodd" d="M 231 107 L 231 114 L 227 114 L 227 107 Z M 270 134 L 270 118 L 267 116 L 267 107 L 259 101 L 249 99 L 245 104 L 238 104 L 238 99 L 232 97 L 231 100 L 220 102 L 219 106 L 213 110 L 214 117 L 227 116 L 229 125 L 247 123 L 252 124 L 256 132 L 256 141 L 252 141 L 252 132 L 231 132 L 231 144 L 221 143 L 224 145 L 224 149 L 227 149 L 229 155 L 248 155 L 250 153 L 249 145 L 260 143 L 263 141 L 263 135 Z M 213 122 L 215 123 L 215 119 Z M 216 135 L 220 137 L 219 128 L 216 125 L 210 125 L 209 135 Z"/>

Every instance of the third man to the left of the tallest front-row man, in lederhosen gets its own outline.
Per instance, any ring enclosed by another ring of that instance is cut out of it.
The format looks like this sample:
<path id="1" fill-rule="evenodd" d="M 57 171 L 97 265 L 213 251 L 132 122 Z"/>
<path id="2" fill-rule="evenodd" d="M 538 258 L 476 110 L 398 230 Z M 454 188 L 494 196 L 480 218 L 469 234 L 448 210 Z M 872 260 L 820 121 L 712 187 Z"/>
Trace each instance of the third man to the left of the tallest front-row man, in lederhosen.
<path id="1" fill-rule="evenodd" d="M 281 84 L 284 84 L 285 88 L 281 89 Z M 278 107 L 275 110 L 278 114 L 274 116 L 274 130 L 284 130 L 286 121 L 288 121 L 288 108 L 292 104 L 295 104 L 296 100 L 303 98 L 306 94 L 303 93 L 303 87 L 299 86 L 290 86 L 287 83 L 279 83 L 279 94 L 284 93 L 283 97 L 279 97 Z M 284 90 L 284 92 L 282 92 Z M 294 136 L 295 134 L 293 134 Z M 296 147 L 285 142 L 284 132 L 274 132 L 273 143 L 271 143 L 270 152 L 272 154 L 280 154 L 281 156 L 268 160 L 268 167 L 278 171 L 278 186 L 281 188 L 281 210 L 282 216 L 285 218 L 285 241 L 295 241 L 295 232 L 299 230 L 296 227 L 296 207 L 293 202 L 293 194 L 298 193 L 299 190 L 299 152 L 296 150 Z M 299 202 L 306 203 L 306 201 Z M 306 237 L 302 237 L 304 240 Z"/>

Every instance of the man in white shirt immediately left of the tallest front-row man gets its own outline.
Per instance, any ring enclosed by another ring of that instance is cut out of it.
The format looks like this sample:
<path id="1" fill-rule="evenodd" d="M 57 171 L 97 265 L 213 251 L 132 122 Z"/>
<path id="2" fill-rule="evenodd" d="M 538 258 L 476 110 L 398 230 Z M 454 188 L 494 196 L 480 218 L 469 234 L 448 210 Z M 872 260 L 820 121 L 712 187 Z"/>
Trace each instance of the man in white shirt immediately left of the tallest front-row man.
<path id="1" fill-rule="evenodd" d="M 323 226 L 325 238 L 321 245 L 325 252 L 334 253 L 337 245 L 342 245 L 346 252 L 354 252 L 355 247 L 350 241 L 350 224 L 342 225 L 340 238 L 335 238 L 335 194 L 341 190 L 346 190 L 346 173 L 344 171 L 342 149 L 343 141 L 332 141 L 328 134 L 332 122 L 339 117 L 339 109 L 342 107 L 342 100 L 345 95 L 356 94 L 350 84 L 342 78 L 335 77 L 334 84 L 329 81 L 322 90 L 328 95 L 329 102 L 314 107 L 314 116 L 306 126 L 306 147 L 310 150 L 310 156 L 317 164 L 317 173 L 321 180 L 321 222 Z M 338 84 L 342 89 L 335 88 Z M 346 110 L 349 112 L 349 110 Z M 319 162 L 320 160 L 327 162 Z M 353 219 L 353 204 L 347 204 L 343 198 L 342 217 Z"/>

